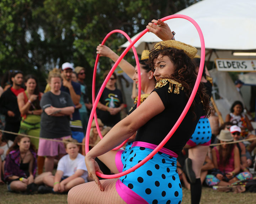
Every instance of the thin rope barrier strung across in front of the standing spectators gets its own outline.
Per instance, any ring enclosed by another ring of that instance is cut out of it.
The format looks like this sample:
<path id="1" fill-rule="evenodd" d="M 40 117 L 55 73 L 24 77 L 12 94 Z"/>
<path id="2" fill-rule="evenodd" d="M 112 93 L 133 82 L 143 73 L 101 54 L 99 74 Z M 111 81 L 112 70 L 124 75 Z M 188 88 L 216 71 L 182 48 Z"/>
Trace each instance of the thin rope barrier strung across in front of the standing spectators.
<path id="1" fill-rule="evenodd" d="M 0 130 L 0 132 L 5 132 L 5 133 L 13 134 L 13 135 L 21 135 L 23 137 L 31 137 L 31 138 L 36 138 L 36 139 L 49 140 L 49 141 L 54 141 L 54 142 L 72 143 L 75 145 L 85 145 L 84 143 L 79 143 L 79 142 L 67 142 L 67 141 L 63 141 L 63 140 L 54 140 L 54 139 L 50 139 L 50 138 L 36 137 L 36 136 L 32 136 L 32 135 L 25 135 L 25 134 L 16 133 L 16 132 L 9 132 L 9 131 L 5 131 L 5 130 Z M 225 142 L 225 144 L 234 144 L 234 143 L 238 143 L 238 142 L 246 142 L 246 141 L 251 141 L 251 140 L 256 140 L 256 137 L 244 139 L 244 140 L 238 140 L 238 141 Z M 219 145 L 223 145 L 223 143 L 210 144 L 210 146 L 219 146 Z M 94 147 L 95 145 L 89 144 L 89 146 Z"/>

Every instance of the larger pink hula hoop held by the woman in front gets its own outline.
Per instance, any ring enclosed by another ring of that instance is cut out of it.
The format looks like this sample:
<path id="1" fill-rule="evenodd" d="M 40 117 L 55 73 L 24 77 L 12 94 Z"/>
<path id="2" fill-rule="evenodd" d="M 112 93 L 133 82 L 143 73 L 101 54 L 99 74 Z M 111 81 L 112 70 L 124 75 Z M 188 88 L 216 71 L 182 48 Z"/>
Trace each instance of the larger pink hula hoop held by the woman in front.
<path id="1" fill-rule="evenodd" d="M 197 92 L 198 86 L 200 84 L 200 80 L 201 80 L 202 73 L 203 73 L 203 66 L 204 66 L 205 45 L 204 45 L 203 33 L 202 33 L 202 30 L 200 29 L 200 27 L 198 26 L 197 22 L 194 21 L 194 19 L 192 19 L 192 18 L 190 18 L 188 16 L 185 16 L 185 15 L 171 15 L 171 16 L 164 17 L 161 20 L 162 21 L 166 21 L 166 20 L 169 20 L 169 19 L 172 19 L 172 18 L 183 18 L 183 19 L 186 19 L 186 20 L 190 21 L 194 25 L 194 27 L 196 27 L 197 32 L 198 32 L 199 37 L 200 37 L 200 42 L 201 42 L 201 61 L 200 61 L 198 75 L 197 75 L 197 80 L 196 80 L 196 83 L 194 85 L 194 88 L 193 88 L 193 91 L 191 93 L 191 96 L 190 96 L 190 98 L 189 98 L 189 100 L 188 100 L 188 102 L 186 104 L 186 107 L 184 108 L 184 110 L 181 113 L 180 117 L 178 118 L 177 122 L 175 123 L 175 125 L 173 126 L 171 131 L 167 134 L 167 136 L 164 138 L 164 140 L 153 150 L 153 152 L 151 152 L 147 157 L 145 157 L 140 163 L 136 164 L 135 166 L 133 166 L 132 168 L 130 168 L 130 169 L 124 171 L 124 172 L 121 172 L 121 173 L 118 173 L 118 174 L 115 174 L 115 175 L 104 175 L 104 174 L 101 174 L 99 172 L 96 172 L 97 176 L 100 176 L 100 177 L 105 178 L 105 179 L 118 178 L 118 177 L 121 177 L 121 176 L 129 174 L 130 172 L 136 170 L 137 168 L 139 168 L 140 166 L 142 166 L 143 164 L 148 162 L 148 160 L 150 158 L 152 158 L 165 145 L 165 143 L 171 138 L 171 136 L 177 130 L 178 126 L 181 124 L 182 120 L 184 119 L 185 115 L 187 114 L 188 109 L 190 108 L 190 106 L 191 106 L 191 104 L 192 104 L 192 102 L 194 100 L 194 97 L 196 96 L 196 92 Z M 133 42 L 123 51 L 122 55 L 118 58 L 117 62 L 114 64 L 113 68 L 117 67 L 118 63 L 122 60 L 124 55 L 126 55 L 126 53 L 135 44 L 135 42 L 137 42 L 146 32 L 148 32 L 148 29 L 145 29 L 142 33 L 140 33 L 137 36 L 137 38 L 135 38 L 133 40 Z M 101 87 L 101 89 L 102 89 L 102 87 Z M 98 103 L 99 99 L 100 99 L 100 96 L 97 96 L 96 101 L 95 101 L 96 104 Z M 94 107 L 92 108 L 92 112 L 95 111 L 96 106 L 97 105 L 94 104 Z M 89 126 L 91 125 L 91 123 L 92 123 L 92 115 L 90 116 L 90 119 L 89 119 Z M 88 131 L 88 129 L 87 129 L 87 131 Z M 88 142 L 89 142 L 89 140 L 88 140 Z M 88 151 L 86 151 L 86 153 L 87 152 Z"/>

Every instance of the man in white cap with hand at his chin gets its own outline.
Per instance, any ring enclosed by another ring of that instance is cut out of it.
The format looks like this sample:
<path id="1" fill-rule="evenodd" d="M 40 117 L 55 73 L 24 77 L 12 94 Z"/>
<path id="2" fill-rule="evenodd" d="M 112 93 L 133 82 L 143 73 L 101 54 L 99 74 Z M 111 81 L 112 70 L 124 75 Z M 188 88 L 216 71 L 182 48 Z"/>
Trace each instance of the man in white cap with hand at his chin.
<path id="1" fill-rule="evenodd" d="M 60 90 L 70 94 L 70 97 L 75 105 L 75 112 L 72 115 L 70 127 L 72 137 L 78 142 L 82 142 L 84 132 L 79 113 L 79 108 L 81 108 L 81 104 L 79 103 L 81 97 L 81 87 L 79 83 L 71 80 L 73 70 L 74 67 L 69 62 L 62 64 L 62 87 Z"/>

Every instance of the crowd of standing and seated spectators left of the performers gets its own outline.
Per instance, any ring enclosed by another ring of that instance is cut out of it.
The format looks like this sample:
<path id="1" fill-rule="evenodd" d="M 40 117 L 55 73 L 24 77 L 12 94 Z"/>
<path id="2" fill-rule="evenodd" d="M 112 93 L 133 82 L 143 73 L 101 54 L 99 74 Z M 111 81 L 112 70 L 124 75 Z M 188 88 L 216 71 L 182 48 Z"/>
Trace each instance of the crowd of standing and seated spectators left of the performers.
<path id="1" fill-rule="evenodd" d="M 0 89 L 0 129 L 14 134 L 0 132 L 0 184 L 6 183 L 8 191 L 63 193 L 90 180 L 84 146 L 79 144 L 85 142 L 92 109 L 85 76 L 85 68 L 66 62 L 49 72 L 42 93 L 34 75 L 24 76 L 20 70 L 5 73 Z M 122 93 L 115 86 L 117 75 L 112 78 L 99 106 L 116 117 L 108 120 L 99 114 L 102 135 L 111 127 L 104 126 L 101 119 L 113 126 L 124 108 Z M 99 140 L 93 121 L 90 145 Z"/>

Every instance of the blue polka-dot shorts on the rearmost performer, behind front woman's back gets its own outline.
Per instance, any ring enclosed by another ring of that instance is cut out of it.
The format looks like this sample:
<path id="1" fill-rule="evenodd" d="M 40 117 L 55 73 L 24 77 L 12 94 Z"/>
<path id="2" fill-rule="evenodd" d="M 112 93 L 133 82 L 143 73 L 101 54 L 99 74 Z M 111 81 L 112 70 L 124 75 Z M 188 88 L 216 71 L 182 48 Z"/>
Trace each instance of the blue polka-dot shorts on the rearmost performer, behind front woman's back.
<path id="1" fill-rule="evenodd" d="M 212 130 L 208 118 L 200 118 L 188 144 L 193 144 L 191 146 L 204 145 L 211 140 L 211 137 Z"/>

